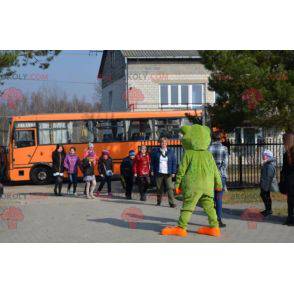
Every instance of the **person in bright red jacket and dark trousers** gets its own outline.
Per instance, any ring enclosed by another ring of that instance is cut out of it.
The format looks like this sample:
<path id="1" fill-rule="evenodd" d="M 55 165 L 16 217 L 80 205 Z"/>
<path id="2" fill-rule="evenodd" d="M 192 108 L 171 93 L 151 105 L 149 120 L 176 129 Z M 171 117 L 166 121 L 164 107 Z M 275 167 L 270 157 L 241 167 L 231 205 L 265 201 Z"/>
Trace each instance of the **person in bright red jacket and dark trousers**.
<path id="1" fill-rule="evenodd" d="M 133 163 L 133 173 L 137 178 L 141 201 L 146 201 L 146 192 L 150 182 L 150 162 L 147 147 L 141 146 L 141 151 L 136 155 Z"/>

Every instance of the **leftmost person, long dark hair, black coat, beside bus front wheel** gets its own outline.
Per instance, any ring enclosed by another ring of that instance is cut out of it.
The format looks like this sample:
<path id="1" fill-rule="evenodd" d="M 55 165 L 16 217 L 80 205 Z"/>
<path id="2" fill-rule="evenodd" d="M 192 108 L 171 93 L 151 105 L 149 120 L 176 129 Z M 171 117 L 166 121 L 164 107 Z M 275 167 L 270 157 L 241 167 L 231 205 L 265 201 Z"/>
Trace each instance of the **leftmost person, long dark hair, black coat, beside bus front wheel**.
<path id="1" fill-rule="evenodd" d="M 52 152 L 52 171 L 55 179 L 54 194 L 62 196 L 62 183 L 64 173 L 65 151 L 62 145 L 57 144 L 56 149 Z"/>

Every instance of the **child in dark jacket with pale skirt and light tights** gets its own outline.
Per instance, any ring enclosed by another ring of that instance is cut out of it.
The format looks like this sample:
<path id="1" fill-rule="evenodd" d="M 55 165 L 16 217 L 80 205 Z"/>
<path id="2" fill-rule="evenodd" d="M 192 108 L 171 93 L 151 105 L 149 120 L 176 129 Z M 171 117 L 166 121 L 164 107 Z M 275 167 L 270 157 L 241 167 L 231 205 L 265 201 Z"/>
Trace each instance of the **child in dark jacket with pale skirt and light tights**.
<path id="1" fill-rule="evenodd" d="M 96 177 L 94 172 L 95 159 L 87 156 L 82 161 L 84 181 L 86 182 L 86 197 L 95 199 L 94 190 L 96 187 Z"/>

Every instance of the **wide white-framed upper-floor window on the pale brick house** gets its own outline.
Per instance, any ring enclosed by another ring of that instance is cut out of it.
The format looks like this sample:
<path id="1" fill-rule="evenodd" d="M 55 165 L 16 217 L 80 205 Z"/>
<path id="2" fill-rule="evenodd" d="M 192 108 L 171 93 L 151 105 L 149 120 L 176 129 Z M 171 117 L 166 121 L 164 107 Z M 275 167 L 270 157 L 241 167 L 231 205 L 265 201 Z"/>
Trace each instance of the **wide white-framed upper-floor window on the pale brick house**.
<path id="1" fill-rule="evenodd" d="M 160 103 L 166 107 L 193 107 L 203 103 L 204 84 L 161 84 Z"/>

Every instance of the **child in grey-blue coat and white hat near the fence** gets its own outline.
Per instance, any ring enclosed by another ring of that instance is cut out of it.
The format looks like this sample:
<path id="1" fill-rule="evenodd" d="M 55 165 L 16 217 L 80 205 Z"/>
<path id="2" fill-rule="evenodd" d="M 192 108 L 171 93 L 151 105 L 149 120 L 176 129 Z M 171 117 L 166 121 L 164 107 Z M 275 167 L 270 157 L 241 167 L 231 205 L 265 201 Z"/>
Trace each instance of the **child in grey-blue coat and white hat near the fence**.
<path id="1" fill-rule="evenodd" d="M 265 210 L 261 212 L 263 216 L 271 215 L 272 199 L 271 191 L 278 192 L 278 183 L 276 179 L 276 165 L 273 153 L 265 150 L 262 153 L 263 165 L 260 173 L 260 197 L 264 203 Z"/>

